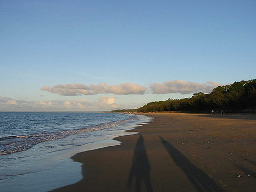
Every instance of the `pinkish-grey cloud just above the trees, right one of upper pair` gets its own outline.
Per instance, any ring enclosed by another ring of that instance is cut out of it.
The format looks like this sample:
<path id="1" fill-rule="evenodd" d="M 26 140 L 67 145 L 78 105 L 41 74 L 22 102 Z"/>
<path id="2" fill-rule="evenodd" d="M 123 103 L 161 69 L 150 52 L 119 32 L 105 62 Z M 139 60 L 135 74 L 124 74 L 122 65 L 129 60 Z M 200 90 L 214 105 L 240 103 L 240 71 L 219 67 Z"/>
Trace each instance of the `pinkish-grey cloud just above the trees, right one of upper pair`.
<path id="1" fill-rule="evenodd" d="M 150 85 L 152 94 L 168 94 L 168 93 L 181 93 L 181 94 L 191 94 L 191 93 L 210 93 L 212 89 L 220 86 L 221 84 L 216 82 L 206 82 L 194 83 L 194 82 L 184 82 L 183 80 L 172 80 L 169 82 L 164 82 L 163 84 L 153 83 Z"/>

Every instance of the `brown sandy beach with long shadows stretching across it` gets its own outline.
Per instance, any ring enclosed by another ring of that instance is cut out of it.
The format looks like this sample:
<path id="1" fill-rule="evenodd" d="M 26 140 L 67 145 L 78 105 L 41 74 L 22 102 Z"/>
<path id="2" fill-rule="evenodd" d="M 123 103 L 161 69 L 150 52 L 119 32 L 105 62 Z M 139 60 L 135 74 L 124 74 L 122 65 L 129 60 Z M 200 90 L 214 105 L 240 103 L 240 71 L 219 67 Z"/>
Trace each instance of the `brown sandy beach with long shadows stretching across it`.
<path id="1" fill-rule="evenodd" d="M 256 116 L 154 113 L 121 145 L 73 156 L 83 179 L 54 191 L 255 191 Z"/>

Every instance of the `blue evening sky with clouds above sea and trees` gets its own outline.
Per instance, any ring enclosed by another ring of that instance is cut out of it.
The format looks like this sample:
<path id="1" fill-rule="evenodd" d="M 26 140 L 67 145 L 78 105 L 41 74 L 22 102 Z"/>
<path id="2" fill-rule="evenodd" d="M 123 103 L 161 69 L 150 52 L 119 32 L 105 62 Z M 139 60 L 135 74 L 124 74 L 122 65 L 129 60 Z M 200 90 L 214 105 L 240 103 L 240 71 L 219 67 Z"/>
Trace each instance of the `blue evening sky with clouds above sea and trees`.
<path id="1" fill-rule="evenodd" d="M 105 111 L 254 79 L 256 1 L 0 1 L 0 111 Z"/>

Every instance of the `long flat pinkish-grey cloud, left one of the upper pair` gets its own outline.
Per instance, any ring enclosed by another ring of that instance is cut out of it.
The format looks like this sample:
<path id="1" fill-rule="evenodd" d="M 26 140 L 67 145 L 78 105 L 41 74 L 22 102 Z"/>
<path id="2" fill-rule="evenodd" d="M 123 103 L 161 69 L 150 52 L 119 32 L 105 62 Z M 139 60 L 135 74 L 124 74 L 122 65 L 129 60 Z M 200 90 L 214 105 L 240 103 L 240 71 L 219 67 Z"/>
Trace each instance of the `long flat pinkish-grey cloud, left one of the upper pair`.
<path id="1" fill-rule="evenodd" d="M 45 86 L 41 90 L 46 90 L 50 93 L 65 96 L 77 96 L 77 95 L 96 95 L 96 94 L 115 94 L 115 95 L 143 95 L 146 93 L 147 88 L 145 86 L 123 83 L 120 85 L 109 85 L 106 83 L 100 83 L 97 85 L 84 85 L 84 84 L 66 84 L 55 85 L 53 87 Z"/>

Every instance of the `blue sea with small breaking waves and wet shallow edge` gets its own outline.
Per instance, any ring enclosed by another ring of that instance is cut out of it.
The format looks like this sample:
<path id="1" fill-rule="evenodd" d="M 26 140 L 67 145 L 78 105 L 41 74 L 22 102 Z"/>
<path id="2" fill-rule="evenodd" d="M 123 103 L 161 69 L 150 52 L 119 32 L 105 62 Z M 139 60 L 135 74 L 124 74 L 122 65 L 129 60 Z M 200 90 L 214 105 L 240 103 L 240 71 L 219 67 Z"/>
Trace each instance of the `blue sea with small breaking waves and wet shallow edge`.
<path id="1" fill-rule="evenodd" d="M 0 113 L 0 191 L 48 191 L 82 179 L 81 151 L 119 145 L 150 117 L 117 113 Z"/>

